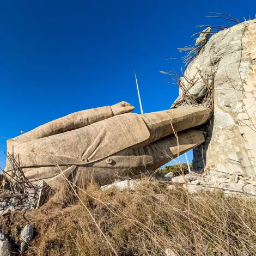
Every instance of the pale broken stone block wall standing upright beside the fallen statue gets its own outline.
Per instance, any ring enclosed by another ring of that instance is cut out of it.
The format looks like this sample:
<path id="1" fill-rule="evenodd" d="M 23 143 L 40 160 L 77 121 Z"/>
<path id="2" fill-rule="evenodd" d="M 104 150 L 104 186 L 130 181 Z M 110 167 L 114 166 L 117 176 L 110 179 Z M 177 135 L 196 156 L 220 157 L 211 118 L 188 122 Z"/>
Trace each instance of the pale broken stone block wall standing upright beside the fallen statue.
<path id="1" fill-rule="evenodd" d="M 185 77 L 197 79 L 190 91 L 194 97 L 204 94 L 201 75 L 215 73 L 215 107 L 208 137 L 193 150 L 197 172 L 208 168 L 220 175 L 256 174 L 255 41 L 256 20 L 224 29 L 211 36 L 185 71 Z"/>

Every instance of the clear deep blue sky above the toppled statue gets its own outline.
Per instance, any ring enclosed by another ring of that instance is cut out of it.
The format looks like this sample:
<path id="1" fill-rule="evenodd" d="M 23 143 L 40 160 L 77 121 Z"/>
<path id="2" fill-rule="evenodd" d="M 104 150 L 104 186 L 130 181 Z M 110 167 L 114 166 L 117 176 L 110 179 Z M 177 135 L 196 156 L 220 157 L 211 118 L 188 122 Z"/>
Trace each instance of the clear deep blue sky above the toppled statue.
<path id="1" fill-rule="evenodd" d="M 176 48 L 193 44 L 196 25 L 228 25 L 209 11 L 243 20 L 255 0 L 1 1 L 0 166 L 5 138 L 66 114 L 125 100 L 139 113 L 168 109 L 178 87 L 159 70 L 180 70 Z M 188 154 L 192 160 L 191 152 Z"/>

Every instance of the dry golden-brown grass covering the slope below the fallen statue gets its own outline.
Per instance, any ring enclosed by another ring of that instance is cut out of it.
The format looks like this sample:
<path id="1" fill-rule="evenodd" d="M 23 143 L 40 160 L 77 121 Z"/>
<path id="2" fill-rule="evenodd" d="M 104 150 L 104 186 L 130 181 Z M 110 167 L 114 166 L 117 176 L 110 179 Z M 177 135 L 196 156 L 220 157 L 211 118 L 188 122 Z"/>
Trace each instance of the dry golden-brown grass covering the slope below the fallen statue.
<path id="1" fill-rule="evenodd" d="M 133 192 L 101 191 L 94 182 L 76 191 L 74 197 L 63 185 L 46 205 L 26 213 L 37 233 L 23 255 L 166 255 L 166 248 L 176 255 L 256 255 L 252 198 L 224 197 L 220 191 L 190 195 L 194 236 L 187 194 L 180 186 L 167 190 L 145 179 Z M 14 237 L 26 220 L 18 213 L 13 223 Z"/>

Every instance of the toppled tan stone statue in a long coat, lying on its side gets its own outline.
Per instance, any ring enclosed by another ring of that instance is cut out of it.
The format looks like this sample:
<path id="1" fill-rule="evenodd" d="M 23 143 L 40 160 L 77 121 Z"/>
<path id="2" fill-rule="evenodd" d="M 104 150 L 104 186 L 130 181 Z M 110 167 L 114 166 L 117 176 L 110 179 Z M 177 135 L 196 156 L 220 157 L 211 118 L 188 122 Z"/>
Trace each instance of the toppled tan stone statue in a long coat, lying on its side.
<path id="1" fill-rule="evenodd" d="M 55 187 L 64 175 L 93 177 L 100 185 L 120 176 L 152 172 L 204 142 L 206 107 L 179 107 L 136 114 L 123 101 L 53 120 L 7 141 L 10 154 L 30 181 Z M 173 133 L 178 132 L 179 141 Z M 7 161 L 5 171 L 11 170 Z"/>

